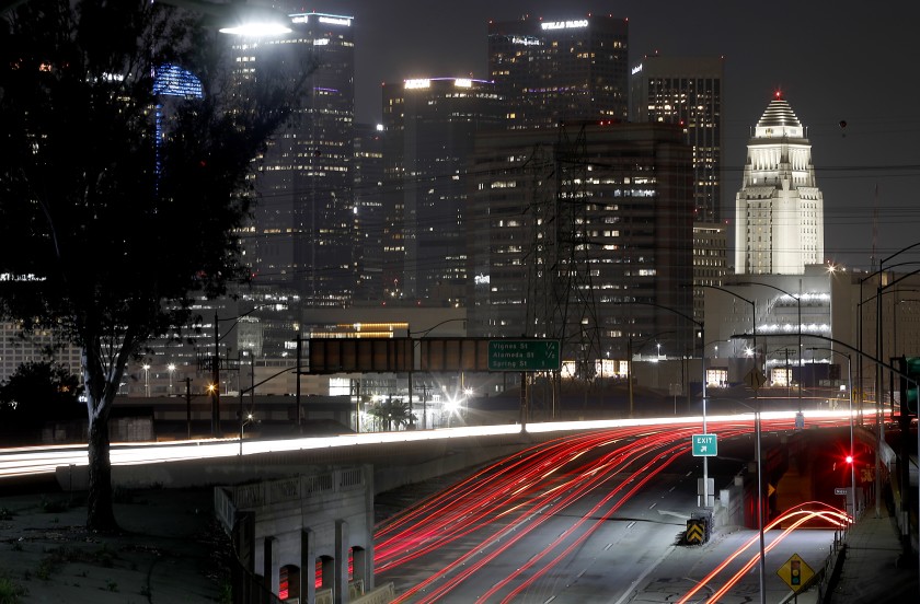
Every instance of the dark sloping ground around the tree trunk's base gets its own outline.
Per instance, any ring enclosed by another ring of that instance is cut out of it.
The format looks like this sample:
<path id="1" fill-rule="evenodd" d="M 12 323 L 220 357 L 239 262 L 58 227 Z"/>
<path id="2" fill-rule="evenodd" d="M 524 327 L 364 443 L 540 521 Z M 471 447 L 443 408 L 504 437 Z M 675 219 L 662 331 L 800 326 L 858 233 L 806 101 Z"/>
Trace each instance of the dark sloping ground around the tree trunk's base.
<path id="1" fill-rule="evenodd" d="M 0 602 L 230 602 L 210 489 L 118 492 L 123 531 L 108 535 L 50 487 L 0 497 Z"/>

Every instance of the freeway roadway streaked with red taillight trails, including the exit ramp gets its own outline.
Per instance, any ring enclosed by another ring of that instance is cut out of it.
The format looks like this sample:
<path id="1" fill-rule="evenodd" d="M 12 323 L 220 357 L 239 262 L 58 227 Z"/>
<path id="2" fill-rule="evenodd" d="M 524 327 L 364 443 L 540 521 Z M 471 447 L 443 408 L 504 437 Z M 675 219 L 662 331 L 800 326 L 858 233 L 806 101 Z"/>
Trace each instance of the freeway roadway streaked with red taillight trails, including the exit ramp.
<path id="1" fill-rule="evenodd" d="M 712 426 L 720 439 L 743 437 L 749 446 L 749 422 Z M 766 431 L 792 428 L 792 418 L 764 421 Z M 745 601 L 759 591 L 749 572 L 756 531 L 679 545 L 698 510 L 693 431 L 674 423 L 596 430 L 483 468 L 377 527 L 376 580 L 392 581 L 400 602 L 666 602 L 720 588 L 722 601 Z M 825 516 L 805 524 L 823 528 L 769 531 L 770 602 L 789 593 L 775 571 L 790 548 L 823 561 L 846 523 L 828 512 L 821 507 Z M 725 560 L 734 576 L 712 574 Z"/>

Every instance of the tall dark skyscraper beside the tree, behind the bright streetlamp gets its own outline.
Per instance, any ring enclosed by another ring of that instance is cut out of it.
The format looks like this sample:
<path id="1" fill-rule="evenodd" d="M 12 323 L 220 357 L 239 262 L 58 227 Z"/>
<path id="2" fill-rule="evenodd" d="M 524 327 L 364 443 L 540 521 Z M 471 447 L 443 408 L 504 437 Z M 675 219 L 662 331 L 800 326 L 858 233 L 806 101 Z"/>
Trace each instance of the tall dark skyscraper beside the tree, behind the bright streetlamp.
<path id="1" fill-rule="evenodd" d="M 307 305 L 344 305 L 357 286 L 354 20 L 323 13 L 290 20 L 289 34 L 233 43 L 238 78 L 308 79 L 256 174 L 260 199 L 244 233 L 244 262 L 255 287 L 295 291 Z"/>

